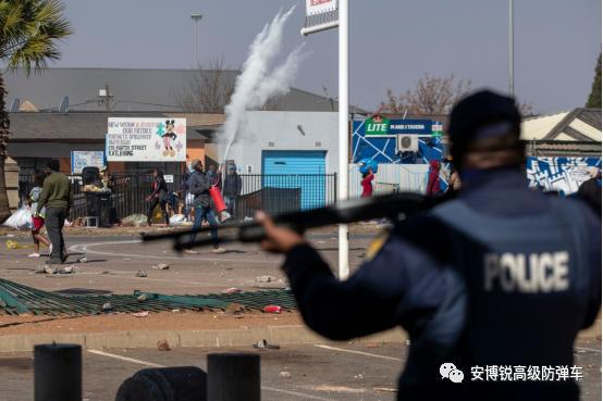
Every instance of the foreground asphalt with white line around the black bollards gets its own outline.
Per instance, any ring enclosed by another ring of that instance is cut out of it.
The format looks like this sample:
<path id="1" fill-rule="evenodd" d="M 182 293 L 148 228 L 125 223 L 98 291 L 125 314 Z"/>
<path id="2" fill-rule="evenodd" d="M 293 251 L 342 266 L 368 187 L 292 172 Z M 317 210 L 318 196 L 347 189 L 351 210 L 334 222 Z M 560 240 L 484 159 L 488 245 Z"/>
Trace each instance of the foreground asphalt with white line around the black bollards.
<path id="1" fill-rule="evenodd" d="M 395 400 L 396 380 L 408 347 L 399 343 L 369 348 L 359 343 L 297 346 L 257 351 L 249 348 L 219 352 L 258 352 L 261 356 L 262 400 Z M 124 379 L 140 368 L 198 366 L 206 371 L 206 358 L 217 350 L 175 349 L 84 351 L 84 400 L 113 400 Z M 125 360 L 126 359 L 126 360 Z M 581 340 L 576 365 L 582 366 L 582 400 L 601 400 L 601 347 Z M 291 378 L 281 377 L 288 372 Z M 30 353 L 0 355 L 0 400 L 29 401 L 33 394 Z"/>

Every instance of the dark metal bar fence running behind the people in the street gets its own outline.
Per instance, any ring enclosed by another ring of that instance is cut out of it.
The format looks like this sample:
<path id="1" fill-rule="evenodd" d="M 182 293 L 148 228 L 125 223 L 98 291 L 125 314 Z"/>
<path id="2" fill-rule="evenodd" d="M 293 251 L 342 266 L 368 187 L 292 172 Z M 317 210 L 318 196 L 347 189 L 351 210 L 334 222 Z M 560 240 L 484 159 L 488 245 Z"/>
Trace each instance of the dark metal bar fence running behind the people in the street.
<path id="1" fill-rule="evenodd" d="M 238 221 L 253 217 L 255 212 L 263 210 L 270 214 L 320 208 L 335 201 L 335 174 L 295 174 L 295 175 L 239 175 L 241 192 L 232 203 L 232 214 Z M 84 217 L 89 213 L 89 196 L 83 190 L 82 176 L 70 175 L 73 191 L 73 208 L 70 218 Z M 176 213 L 190 204 L 182 193 L 183 175 L 170 176 L 168 189 L 173 193 L 171 211 Z M 116 221 L 132 214 L 146 214 L 151 192 L 150 174 L 113 175 L 111 193 L 111 220 Z M 34 187 L 33 177 L 21 175 L 19 179 L 20 206 L 27 201 Z"/>

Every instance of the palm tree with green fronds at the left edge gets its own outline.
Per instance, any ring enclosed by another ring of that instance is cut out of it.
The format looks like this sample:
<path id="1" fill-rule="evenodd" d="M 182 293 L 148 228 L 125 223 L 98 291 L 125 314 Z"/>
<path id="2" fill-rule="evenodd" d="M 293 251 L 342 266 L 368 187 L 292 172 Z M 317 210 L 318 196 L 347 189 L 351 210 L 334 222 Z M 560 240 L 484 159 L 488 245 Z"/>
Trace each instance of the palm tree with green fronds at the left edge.
<path id="1" fill-rule="evenodd" d="M 0 0 L 0 62 L 3 66 L 23 68 L 29 75 L 59 59 L 58 41 L 73 33 L 63 11 L 61 0 Z M 0 71 L 0 223 L 11 214 L 4 179 L 10 127 L 5 96 Z"/>

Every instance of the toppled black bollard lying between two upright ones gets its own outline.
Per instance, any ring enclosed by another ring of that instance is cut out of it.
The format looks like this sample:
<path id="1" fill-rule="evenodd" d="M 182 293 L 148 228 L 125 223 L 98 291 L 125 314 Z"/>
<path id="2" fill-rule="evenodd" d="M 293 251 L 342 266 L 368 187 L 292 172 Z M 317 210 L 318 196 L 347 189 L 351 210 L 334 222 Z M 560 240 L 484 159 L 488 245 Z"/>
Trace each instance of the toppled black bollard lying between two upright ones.
<path id="1" fill-rule="evenodd" d="M 115 401 L 206 401 L 207 375 L 195 366 L 136 372 L 118 390 Z"/>

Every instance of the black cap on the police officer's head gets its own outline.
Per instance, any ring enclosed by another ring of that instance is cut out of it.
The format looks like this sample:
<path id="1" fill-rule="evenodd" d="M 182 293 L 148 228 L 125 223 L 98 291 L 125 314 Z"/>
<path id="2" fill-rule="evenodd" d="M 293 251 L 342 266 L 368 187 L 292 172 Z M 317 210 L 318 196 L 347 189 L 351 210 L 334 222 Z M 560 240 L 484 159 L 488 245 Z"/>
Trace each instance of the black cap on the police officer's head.
<path id="1" fill-rule="evenodd" d="M 521 115 L 515 99 L 480 90 L 462 99 L 452 110 L 448 136 L 455 162 L 466 152 L 468 145 L 479 137 L 515 134 L 519 142 Z"/>

